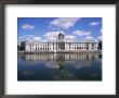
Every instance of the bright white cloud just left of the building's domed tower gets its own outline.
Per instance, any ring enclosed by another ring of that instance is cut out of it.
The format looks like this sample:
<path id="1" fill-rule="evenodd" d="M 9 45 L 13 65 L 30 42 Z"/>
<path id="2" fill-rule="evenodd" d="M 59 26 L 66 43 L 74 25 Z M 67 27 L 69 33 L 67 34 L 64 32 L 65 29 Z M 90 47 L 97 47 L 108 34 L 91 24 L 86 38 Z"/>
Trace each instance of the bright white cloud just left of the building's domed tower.
<path id="1" fill-rule="evenodd" d="M 63 30 L 61 30 L 61 32 L 48 32 L 43 36 L 45 37 L 47 40 L 56 40 L 60 33 L 64 34 Z"/>

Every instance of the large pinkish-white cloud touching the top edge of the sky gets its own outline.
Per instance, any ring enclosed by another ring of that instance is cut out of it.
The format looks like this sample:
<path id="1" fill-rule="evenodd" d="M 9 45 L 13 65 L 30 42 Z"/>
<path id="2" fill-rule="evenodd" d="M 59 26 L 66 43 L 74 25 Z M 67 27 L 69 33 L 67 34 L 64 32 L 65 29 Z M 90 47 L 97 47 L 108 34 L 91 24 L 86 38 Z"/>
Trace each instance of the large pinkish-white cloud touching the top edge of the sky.
<path id="1" fill-rule="evenodd" d="M 68 29 L 69 27 L 74 26 L 78 20 L 78 17 L 60 17 L 54 19 L 50 24 L 60 28 Z"/>

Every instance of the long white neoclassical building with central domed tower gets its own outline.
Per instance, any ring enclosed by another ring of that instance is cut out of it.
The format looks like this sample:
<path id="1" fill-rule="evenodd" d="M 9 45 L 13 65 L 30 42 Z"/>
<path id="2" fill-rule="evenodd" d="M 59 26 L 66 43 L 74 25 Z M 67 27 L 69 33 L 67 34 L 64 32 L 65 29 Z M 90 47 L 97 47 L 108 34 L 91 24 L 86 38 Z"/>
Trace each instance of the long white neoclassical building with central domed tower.
<path id="1" fill-rule="evenodd" d="M 26 51 L 44 51 L 44 52 L 78 52 L 78 51 L 95 51 L 97 50 L 97 40 L 83 40 L 71 42 L 65 40 L 65 36 L 60 33 L 56 41 L 30 41 L 26 42 Z"/>

